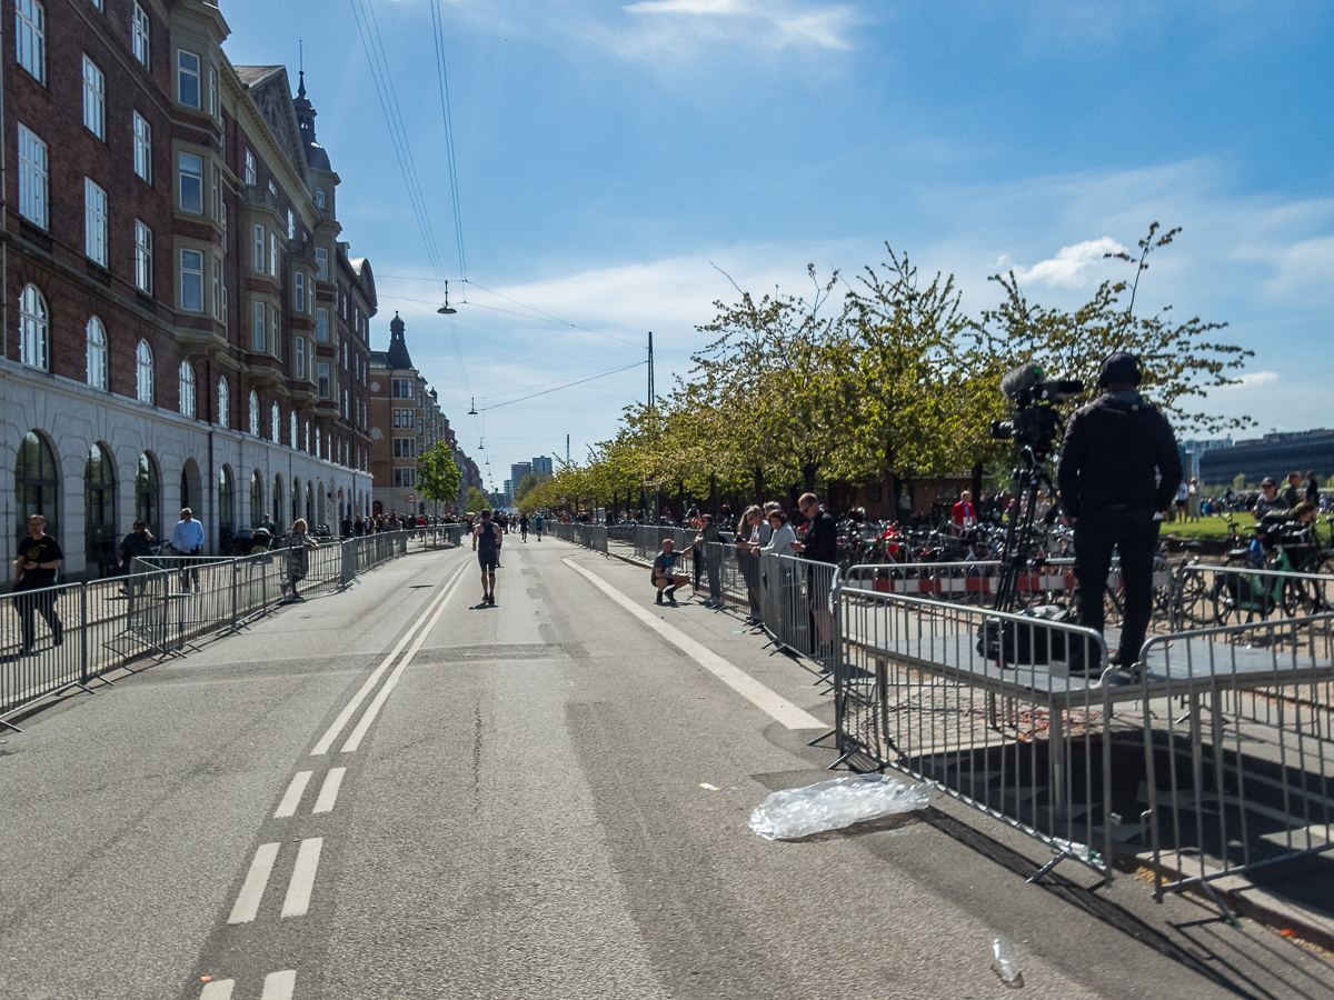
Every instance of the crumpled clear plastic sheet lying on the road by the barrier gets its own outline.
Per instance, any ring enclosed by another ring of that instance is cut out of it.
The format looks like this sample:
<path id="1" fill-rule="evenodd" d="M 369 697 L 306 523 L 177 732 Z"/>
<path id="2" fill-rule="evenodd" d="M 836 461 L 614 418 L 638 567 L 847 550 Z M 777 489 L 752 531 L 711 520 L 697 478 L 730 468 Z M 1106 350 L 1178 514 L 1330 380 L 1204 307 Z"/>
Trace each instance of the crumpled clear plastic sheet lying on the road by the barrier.
<path id="1" fill-rule="evenodd" d="M 766 840 L 794 840 L 854 823 L 915 812 L 931 804 L 926 785 L 886 775 L 854 775 L 774 792 L 751 813 L 750 828 Z"/>

